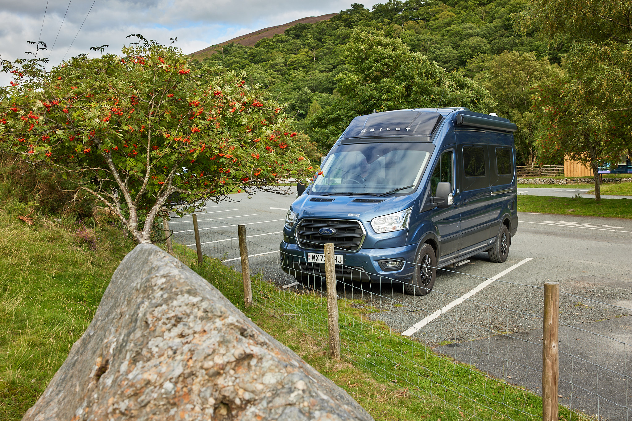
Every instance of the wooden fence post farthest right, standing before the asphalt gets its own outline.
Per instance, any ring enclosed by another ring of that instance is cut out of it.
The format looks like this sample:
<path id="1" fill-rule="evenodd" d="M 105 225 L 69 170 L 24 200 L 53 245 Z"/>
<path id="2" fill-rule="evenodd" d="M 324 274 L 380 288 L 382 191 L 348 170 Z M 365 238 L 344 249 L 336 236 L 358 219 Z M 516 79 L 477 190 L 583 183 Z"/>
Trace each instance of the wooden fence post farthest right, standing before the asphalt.
<path id="1" fill-rule="evenodd" d="M 559 283 L 544 283 L 544 331 L 542 332 L 542 421 L 557 421 L 559 379 Z"/>

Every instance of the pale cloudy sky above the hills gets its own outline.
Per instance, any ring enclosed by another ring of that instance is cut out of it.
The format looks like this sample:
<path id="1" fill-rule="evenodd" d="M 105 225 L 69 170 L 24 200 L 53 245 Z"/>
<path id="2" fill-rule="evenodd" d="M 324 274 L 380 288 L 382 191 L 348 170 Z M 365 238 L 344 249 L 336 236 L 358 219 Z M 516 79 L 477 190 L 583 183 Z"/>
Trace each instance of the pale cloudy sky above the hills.
<path id="1" fill-rule="evenodd" d="M 25 51 L 33 49 L 27 41 L 37 40 L 46 42 L 47 50 L 39 54 L 49 57 L 53 65 L 88 53 L 90 47 L 97 45 L 108 44 L 106 52 L 118 54 L 123 44 L 130 42 L 125 39 L 130 33 L 142 33 L 145 38 L 163 44 L 178 37 L 176 45 L 191 53 L 260 28 L 336 13 L 348 9 L 351 3 L 363 3 L 371 9 L 380 2 L 0 0 L 0 57 L 11 61 L 24 57 Z M 3 75 L 0 74 L 0 83 L 4 85 L 9 79 Z"/>

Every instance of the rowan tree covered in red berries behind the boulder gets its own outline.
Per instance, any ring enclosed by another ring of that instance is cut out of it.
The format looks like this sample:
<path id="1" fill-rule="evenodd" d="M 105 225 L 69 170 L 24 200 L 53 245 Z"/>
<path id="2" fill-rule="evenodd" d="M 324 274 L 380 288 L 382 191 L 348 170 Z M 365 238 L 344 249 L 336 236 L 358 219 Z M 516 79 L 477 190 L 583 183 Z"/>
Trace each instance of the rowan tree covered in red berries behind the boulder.
<path id="1" fill-rule="evenodd" d="M 173 193 L 190 205 L 240 187 L 279 191 L 311 169 L 283 107 L 245 73 L 193 70 L 188 57 L 138 35 L 112 54 L 75 57 L 21 77 L 0 102 L 0 145 L 61 172 L 150 242 Z"/>

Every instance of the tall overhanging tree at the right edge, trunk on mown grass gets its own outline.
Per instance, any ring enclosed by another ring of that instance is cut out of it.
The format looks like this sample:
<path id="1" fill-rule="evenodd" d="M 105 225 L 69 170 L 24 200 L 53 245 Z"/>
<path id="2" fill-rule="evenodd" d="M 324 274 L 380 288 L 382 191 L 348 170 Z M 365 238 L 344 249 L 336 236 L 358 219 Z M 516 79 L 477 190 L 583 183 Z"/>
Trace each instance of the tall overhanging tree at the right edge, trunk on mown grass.
<path id="1" fill-rule="evenodd" d="M 545 131 L 541 143 L 557 142 L 569 148 L 562 149 L 563 153 L 590 162 L 597 200 L 598 163 L 618 160 L 624 150 L 632 148 L 631 10 L 632 0 L 532 0 L 530 8 L 516 19 L 523 32 L 537 28 L 550 40 L 572 40 L 562 61 L 568 74 L 560 92 L 563 99 L 554 104 L 557 111 L 542 100 L 539 107 L 540 119 L 556 117 L 562 134 Z M 567 134 L 571 129 L 572 136 Z M 549 137 L 551 133 L 554 135 Z"/>

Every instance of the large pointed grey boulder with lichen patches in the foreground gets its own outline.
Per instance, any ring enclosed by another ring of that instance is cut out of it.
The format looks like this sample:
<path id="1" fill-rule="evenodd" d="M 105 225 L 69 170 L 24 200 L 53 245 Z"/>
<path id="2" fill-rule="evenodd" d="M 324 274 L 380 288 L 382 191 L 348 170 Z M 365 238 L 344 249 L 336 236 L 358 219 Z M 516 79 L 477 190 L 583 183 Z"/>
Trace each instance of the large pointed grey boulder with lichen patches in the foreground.
<path id="1" fill-rule="evenodd" d="M 372 420 L 158 247 L 125 256 L 23 420 Z"/>

